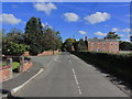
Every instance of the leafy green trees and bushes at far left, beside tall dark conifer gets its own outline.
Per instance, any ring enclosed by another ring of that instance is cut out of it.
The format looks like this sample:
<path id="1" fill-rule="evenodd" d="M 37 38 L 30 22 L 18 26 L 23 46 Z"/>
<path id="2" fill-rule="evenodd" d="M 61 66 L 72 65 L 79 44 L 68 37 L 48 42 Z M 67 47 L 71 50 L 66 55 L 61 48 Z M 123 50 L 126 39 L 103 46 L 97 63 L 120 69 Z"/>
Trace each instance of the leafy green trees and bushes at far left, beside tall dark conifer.
<path id="1" fill-rule="evenodd" d="M 23 33 L 19 29 L 12 29 L 9 33 L 2 31 L 2 54 L 22 55 L 30 46 L 23 44 Z"/>

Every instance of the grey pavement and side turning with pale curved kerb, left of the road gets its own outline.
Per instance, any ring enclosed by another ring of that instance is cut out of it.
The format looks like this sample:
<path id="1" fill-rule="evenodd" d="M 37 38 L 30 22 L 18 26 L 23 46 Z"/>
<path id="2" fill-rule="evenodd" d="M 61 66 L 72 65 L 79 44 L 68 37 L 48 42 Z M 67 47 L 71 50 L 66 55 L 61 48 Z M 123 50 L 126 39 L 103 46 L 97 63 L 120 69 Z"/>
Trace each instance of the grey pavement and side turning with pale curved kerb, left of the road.
<path id="1" fill-rule="evenodd" d="M 2 89 L 0 89 L 0 99 L 6 97 L 11 97 L 22 87 L 24 87 L 28 82 L 33 80 L 37 75 L 40 75 L 46 68 L 46 65 L 51 61 L 53 61 L 55 56 L 54 57 L 46 56 L 45 61 L 43 61 L 43 64 L 40 61 L 37 61 L 37 57 L 35 56 L 31 58 L 33 61 L 33 66 L 29 70 L 21 73 L 19 76 L 2 82 Z"/>

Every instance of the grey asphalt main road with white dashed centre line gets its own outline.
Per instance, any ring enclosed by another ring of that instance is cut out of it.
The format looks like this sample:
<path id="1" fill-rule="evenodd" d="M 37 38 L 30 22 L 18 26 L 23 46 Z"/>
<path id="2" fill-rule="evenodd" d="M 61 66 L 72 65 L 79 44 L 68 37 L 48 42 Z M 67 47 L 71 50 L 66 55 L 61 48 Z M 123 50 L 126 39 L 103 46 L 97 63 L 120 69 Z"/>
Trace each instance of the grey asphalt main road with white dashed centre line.
<path id="1" fill-rule="evenodd" d="M 35 57 L 43 63 L 43 57 Z M 34 58 L 34 59 L 35 59 Z M 41 59 L 38 59 L 41 58 Z M 128 97 L 94 66 L 72 55 L 56 55 L 16 97 Z"/>

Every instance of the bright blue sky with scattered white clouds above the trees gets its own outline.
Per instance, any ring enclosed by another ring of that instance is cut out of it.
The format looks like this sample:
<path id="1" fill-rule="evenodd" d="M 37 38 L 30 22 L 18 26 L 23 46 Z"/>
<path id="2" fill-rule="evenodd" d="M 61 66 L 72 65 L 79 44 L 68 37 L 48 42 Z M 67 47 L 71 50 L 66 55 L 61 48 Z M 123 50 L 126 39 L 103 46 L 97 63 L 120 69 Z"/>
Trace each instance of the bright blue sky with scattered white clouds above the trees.
<path id="1" fill-rule="evenodd" d="M 129 2 L 2 2 L 2 29 L 24 32 L 31 16 L 40 18 L 43 26 L 61 32 L 63 40 L 99 37 L 116 32 L 122 41 L 130 36 Z"/>

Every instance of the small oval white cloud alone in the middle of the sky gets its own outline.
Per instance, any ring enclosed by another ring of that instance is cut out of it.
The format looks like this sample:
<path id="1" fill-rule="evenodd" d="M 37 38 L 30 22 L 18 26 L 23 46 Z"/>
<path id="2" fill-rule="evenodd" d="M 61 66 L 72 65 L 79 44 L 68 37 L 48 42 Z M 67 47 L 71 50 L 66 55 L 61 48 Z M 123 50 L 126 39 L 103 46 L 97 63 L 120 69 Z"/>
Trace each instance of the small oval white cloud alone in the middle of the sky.
<path id="1" fill-rule="evenodd" d="M 63 14 L 65 21 L 68 22 L 77 22 L 79 20 L 79 16 L 76 13 L 67 12 Z"/>

